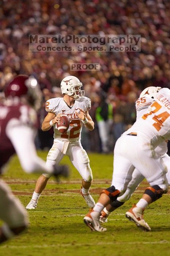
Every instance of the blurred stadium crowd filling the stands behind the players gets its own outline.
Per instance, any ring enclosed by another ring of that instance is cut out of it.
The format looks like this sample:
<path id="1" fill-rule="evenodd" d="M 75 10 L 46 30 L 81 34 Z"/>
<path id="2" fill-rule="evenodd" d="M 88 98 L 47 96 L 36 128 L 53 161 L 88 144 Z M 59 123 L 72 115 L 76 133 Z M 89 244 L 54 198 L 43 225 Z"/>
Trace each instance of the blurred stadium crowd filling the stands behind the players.
<path id="1" fill-rule="evenodd" d="M 16 74 L 34 75 L 45 102 L 62 97 L 64 76 L 77 76 L 91 98 L 96 126 L 83 129 L 82 144 L 113 151 L 135 122 L 141 90 L 170 88 L 169 24 L 169 0 L 1 0 L 0 91 Z M 141 52 L 29 52 L 29 34 L 140 34 Z M 101 71 L 70 71 L 71 63 L 100 63 Z M 40 124 L 45 115 L 43 104 Z M 44 134 L 39 129 L 37 147 L 51 146 L 53 131 Z"/>

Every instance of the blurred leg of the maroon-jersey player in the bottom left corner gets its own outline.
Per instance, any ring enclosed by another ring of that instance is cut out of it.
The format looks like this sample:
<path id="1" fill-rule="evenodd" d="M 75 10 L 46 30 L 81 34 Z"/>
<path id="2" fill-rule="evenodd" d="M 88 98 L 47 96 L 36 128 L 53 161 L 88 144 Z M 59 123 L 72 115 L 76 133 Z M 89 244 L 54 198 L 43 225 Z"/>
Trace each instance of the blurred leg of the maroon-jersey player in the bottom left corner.
<path id="1" fill-rule="evenodd" d="M 27 212 L 10 188 L 0 180 L 0 243 L 18 235 L 28 226 Z"/>

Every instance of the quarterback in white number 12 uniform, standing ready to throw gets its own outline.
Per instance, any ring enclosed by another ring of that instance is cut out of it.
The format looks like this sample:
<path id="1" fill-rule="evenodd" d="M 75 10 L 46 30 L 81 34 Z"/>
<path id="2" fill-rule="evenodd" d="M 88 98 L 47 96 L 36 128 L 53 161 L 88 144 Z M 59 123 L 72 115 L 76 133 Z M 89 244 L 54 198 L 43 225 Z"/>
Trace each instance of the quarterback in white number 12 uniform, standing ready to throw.
<path id="1" fill-rule="evenodd" d="M 48 131 L 54 127 L 54 144 L 50 149 L 46 165 L 53 166 L 58 164 L 64 155 L 68 155 L 70 161 L 82 176 L 81 195 L 87 205 L 91 208 L 95 206 L 94 199 L 89 193 L 92 181 L 92 171 L 89 165 L 89 158 L 83 149 L 80 138 L 82 125 L 92 131 L 94 122 L 92 121 L 88 110 L 91 109 L 91 100 L 84 97 L 84 91 L 81 90 L 82 83 L 75 76 L 66 76 L 61 81 L 61 92 L 63 98 L 52 98 L 46 102 L 47 116 L 42 123 L 42 130 Z M 67 114 L 70 119 L 70 126 L 67 132 L 61 134 L 56 123 L 60 120 L 61 114 Z M 42 174 L 36 183 L 33 197 L 26 209 L 35 209 L 38 199 L 45 189 L 51 175 Z"/>

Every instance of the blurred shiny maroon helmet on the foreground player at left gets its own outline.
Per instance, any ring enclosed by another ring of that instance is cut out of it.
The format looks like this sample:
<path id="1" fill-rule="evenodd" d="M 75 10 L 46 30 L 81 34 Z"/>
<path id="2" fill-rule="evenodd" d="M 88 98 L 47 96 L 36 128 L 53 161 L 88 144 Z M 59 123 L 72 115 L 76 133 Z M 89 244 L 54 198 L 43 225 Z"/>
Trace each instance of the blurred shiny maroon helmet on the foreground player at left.
<path id="1" fill-rule="evenodd" d="M 5 86 L 5 97 L 27 97 L 30 103 L 36 110 L 41 107 L 42 93 L 37 80 L 34 76 L 18 75 Z"/>

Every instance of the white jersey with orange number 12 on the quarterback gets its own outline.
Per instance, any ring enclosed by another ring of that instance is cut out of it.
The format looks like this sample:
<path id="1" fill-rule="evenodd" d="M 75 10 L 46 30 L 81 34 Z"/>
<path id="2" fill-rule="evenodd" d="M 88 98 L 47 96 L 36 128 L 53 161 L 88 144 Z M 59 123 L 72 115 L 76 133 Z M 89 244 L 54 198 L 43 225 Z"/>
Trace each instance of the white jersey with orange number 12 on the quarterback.
<path id="1" fill-rule="evenodd" d="M 82 121 L 76 115 L 75 111 L 79 113 L 79 108 L 85 112 L 91 109 L 91 100 L 87 97 L 75 99 L 75 103 L 72 107 L 68 106 L 63 98 L 53 98 L 46 102 L 45 110 L 47 112 L 55 113 L 56 116 L 59 113 L 67 114 L 70 120 L 70 126 L 67 132 L 61 134 L 57 126 L 54 125 L 54 141 L 60 140 L 79 140 L 81 139 Z"/>

